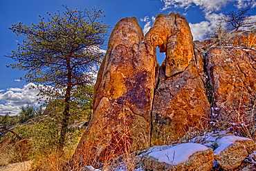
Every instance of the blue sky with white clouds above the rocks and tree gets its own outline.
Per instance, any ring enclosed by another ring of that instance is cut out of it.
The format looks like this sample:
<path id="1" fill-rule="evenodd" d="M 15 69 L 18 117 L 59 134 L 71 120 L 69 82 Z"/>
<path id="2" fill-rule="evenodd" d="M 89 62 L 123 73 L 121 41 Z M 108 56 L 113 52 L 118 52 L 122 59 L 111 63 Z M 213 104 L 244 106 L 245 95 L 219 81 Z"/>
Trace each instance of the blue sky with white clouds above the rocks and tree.
<path id="1" fill-rule="evenodd" d="M 46 16 L 46 12 L 53 14 L 57 10 L 64 10 L 62 5 L 71 10 L 91 10 L 95 6 L 104 10 L 106 17 L 102 18 L 102 21 L 109 26 L 109 32 L 124 17 L 136 17 L 141 28 L 147 32 L 157 14 L 179 12 L 190 23 L 194 39 L 202 40 L 205 32 L 212 30 L 225 12 L 244 8 L 249 3 L 253 6 L 250 14 L 256 21 L 256 0 L 1 0 L 0 114 L 17 114 L 21 105 L 33 104 L 37 99 L 37 91 L 29 89 L 31 83 L 19 79 L 24 77 L 25 72 L 6 68 L 6 65 L 14 61 L 4 56 L 12 50 L 17 50 L 17 42 L 23 39 L 8 30 L 12 23 L 21 21 L 31 26 L 31 23 L 38 22 L 39 14 Z M 158 62 L 161 63 L 162 60 L 163 54 L 158 54 Z"/>

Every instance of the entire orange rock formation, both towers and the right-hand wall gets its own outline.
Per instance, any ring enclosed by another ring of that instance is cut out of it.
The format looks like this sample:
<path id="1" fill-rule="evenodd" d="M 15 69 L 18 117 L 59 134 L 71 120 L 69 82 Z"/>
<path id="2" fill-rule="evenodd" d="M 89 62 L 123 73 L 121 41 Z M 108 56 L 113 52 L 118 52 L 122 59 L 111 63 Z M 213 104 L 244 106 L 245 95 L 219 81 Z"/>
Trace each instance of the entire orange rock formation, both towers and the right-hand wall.
<path id="1" fill-rule="evenodd" d="M 213 117 L 249 122 L 256 99 L 255 32 L 216 42 L 193 43 L 180 14 L 158 14 L 145 37 L 136 18 L 121 19 L 109 37 L 93 115 L 69 168 L 179 140 L 188 130 L 203 130 Z M 157 46 L 166 54 L 162 66 Z M 211 109 L 218 116 L 210 116 Z"/>

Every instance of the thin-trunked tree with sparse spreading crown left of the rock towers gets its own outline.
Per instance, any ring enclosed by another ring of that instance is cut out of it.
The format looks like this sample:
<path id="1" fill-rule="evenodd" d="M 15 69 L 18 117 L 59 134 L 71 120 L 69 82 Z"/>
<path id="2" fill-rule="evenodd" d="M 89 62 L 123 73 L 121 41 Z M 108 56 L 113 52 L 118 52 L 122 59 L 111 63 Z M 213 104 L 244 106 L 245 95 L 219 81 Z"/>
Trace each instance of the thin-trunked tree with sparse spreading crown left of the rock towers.
<path id="1" fill-rule="evenodd" d="M 71 106 L 79 97 L 76 90 L 93 85 L 92 73 L 102 59 L 100 47 L 107 34 L 107 26 L 98 21 L 102 10 L 94 8 L 90 12 L 64 7 L 65 12 L 47 12 L 47 19 L 39 16 L 39 23 L 30 27 L 21 22 L 12 24 L 10 30 L 26 39 L 18 44 L 17 51 L 7 55 L 17 61 L 9 67 L 26 70 L 26 81 L 40 85 L 37 88 L 46 102 L 59 103 L 57 106 L 62 110 L 59 151 L 63 150 L 73 117 Z"/>

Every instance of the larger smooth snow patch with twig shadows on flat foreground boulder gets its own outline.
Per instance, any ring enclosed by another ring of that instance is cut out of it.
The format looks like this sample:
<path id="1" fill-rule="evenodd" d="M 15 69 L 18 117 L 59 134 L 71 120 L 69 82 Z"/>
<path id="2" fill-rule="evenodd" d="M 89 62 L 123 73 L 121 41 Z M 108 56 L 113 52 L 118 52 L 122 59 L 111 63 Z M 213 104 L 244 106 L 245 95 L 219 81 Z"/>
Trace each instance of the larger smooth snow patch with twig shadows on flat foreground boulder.
<path id="1" fill-rule="evenodd" d="M 151 152 L 149 156 L 158 159 L 159 162 L 178 165 L 188 161 L 188 158 L 195 152 L 205 150 L 208 150 L 208 148 L 199 143 L 182 143 L 166 150 Z"/>

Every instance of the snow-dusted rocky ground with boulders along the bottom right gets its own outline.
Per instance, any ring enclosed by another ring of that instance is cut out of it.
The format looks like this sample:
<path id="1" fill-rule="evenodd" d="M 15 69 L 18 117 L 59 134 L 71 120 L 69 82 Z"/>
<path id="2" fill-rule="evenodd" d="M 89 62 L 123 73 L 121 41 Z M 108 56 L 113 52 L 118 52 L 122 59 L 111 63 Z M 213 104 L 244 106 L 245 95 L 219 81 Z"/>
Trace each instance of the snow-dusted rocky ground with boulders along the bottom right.
<path id="1" fill-rule="evenodd" d="M 178 144 L 154 145 L 130 157 L 127 160 L 122 155 L 107 168 L 85 166 L 83 170 L 256 170 L 255 142 L 227 131 L 205 132 Z"/>

